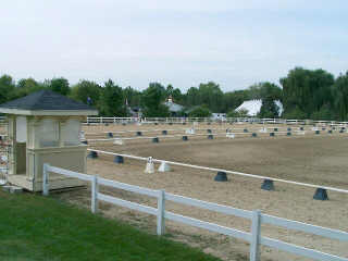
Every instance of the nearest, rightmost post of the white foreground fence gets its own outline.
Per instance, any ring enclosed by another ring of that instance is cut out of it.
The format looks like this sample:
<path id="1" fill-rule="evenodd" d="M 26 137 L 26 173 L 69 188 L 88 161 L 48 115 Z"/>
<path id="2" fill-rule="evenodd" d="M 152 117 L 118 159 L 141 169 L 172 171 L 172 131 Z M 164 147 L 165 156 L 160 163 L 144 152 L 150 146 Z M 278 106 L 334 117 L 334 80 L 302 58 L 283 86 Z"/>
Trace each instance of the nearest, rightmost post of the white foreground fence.
<path id="1" fill-rule="evenodd" d="M 251 220 L 251 241 L 250 241 L 250 261 L 260 260 L 260 232 L 261 232 L 261 211 L 252 211 Z"/>

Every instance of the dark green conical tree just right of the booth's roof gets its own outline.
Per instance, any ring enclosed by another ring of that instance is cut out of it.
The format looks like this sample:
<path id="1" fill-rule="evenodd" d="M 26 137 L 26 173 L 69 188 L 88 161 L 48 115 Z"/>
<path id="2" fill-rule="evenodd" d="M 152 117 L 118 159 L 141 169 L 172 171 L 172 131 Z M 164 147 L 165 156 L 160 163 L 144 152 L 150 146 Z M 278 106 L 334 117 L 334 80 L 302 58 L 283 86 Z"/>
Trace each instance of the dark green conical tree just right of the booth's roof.
<path id="1" fill-rule="evenodd" d="M 104 83 L 99 109 L 103 116 L 126 116 L 127 114 L 122 88 L 111 79 Z"/>

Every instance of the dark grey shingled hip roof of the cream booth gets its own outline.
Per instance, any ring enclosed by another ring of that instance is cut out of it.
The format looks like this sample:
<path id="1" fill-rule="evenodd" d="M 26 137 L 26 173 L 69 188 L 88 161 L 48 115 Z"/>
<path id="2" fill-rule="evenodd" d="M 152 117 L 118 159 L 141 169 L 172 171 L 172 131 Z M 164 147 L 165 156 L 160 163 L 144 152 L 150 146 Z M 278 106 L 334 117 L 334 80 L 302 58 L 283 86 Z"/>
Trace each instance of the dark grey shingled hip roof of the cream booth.
<path id="1" fill-rule="evenodd" d="M 34 113 L 25 113 L 25 112 Z M 78 115 L 95 115 L 97 110 L 51 90 L 39 90 L 26 97 L 0 104 L 0 112 L 14 114 L 40 114 L 38 111 L 72 112 Z M 17 113 L 15 113 L 17 112 Z M 23 113 L 20 113 L 23 112 Z M 75 113 L 74 113 L 75 112 Z M 47 113 L 45 113 L 47 114 Z"/>

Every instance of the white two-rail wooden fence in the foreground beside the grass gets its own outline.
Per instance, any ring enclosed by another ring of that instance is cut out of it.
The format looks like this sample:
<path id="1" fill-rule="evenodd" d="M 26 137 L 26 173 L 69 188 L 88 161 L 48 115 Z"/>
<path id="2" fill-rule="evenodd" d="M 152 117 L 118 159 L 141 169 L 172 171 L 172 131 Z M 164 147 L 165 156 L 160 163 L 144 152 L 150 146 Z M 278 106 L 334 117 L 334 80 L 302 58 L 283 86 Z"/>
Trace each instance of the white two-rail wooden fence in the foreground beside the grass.
<path id="1" fill-rule="evenodd" d="M 248 211 L 240 210 L 227 206 L 222 206 L 217 203 L 211 203 L 207 201 L 201 201 L 188 197 L 177 196 L 174 194 L 165 192 L 164 190 L 152 190 L 148 188 L 142 188 L 134 185 L 128 185 L 124 183 L 119 183 L 98 176 L 86 175 L 77 172 L 67 171 L 64 169 L 50 166 L 49 164 L 44 164 L 44 182 L 42 182 L 42 194 L 45 196 L 49 195 L 49 173 L 62 174 L 65 176 L 79 178 L 91 183 L 91 211 L 94 213 L 98 212 L 98 201 L 105 201 L 120 207 L 128 208 L 132 210 L 137 210 L 148 214 L 157 216 L 157 234 L 163 235 L 165 232 L 165 220 L 171 220 L 179 222 L 186 225 L 203 228 L 207 231 L 220 233 L 226 236 L 243 239 L 250 244 L 250 261 L 260 260 L 260 246 L 268 246 L 271 248 L 279 249 L 298 256 L 311 258 L 314 260 L 332 260 L 332 261 L 348 261 L 348 258 L 337 257 L 331 253 L 321 252 L 318 250 L 296 246 L 293 244 L 284 243 L 277 239 L 261 236 L 261 225 L 271 224 L 279 227 L 285 227 L 287 229 L 300 231 L 331 239 L 337 239 L 341 241 L 348 241 L 348 233 L 332 228 L 325 228 L 321 226 L 315 226 L 311 224 L 306 224 L 297 221 L 286 220 L 277 216 L 272 216 L 261 213 L 261 211 Z M 119 199 L 112 196 L 108 196 L 99 192 L 99 185 L 109 186 L 113 188 L 119 188 L 136 194 L 146 195 L 149 197 L 154 197 L 158 200 L 157 208 L 130 202 L 127 200 Z M 219 213 L 224 213 L 228 215 L 235 215 L 238 217 L 247 219 L 251 221 L 251 232 L 243 232 L 235 228 L 221 226 L 214 223 L 192 219 L 189 216 L 184 216 L 175 214 L 173 212 L 165 210 L 165 201 L 173 201 L 176 203 L 182 203 L 186 206 L 197 207 L 210 211 L 215 211 Z"/>

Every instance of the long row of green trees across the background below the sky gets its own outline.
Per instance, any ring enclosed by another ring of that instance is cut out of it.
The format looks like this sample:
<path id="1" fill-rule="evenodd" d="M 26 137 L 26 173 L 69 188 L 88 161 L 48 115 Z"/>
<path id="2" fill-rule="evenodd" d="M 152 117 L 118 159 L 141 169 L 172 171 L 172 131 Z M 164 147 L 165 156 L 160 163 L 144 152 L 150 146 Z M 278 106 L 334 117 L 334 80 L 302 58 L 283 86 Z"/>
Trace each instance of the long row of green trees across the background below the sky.
<path id="1" fill-rule="evenodd" d="M 243 90 L 222 91 L 214 82 L 190 87 L 186 92 L 172 85 L 150 83 L 140 91 L 134 87 L 121 87 L 109 79 L 102 85 L 82 79 L 71 85 L 64 77 L 46 79 L 23 78 L 17 82 L 10 75 L 0 77 L 0 103 L 21 98 L 40 89 L 50 89 L 84 103 L 91 103 L 102 116 L 127 116 L 133 110 L 141 110 L 145 116 L 170 116 L 163 102 L 172 97 L 185 110 L 177 116 L 209 116 L 212 112 L 228 116 L 244 116 L 247 112 L 235 109 L 246 100 L 262 100 L 260 117 L 277 117 L 283 103 L 283 117 L 313 120 L 348 120 L 348 71 L 334 77 L 324 70 L 295 67 L 274 83 L 257 83 Z"/>

